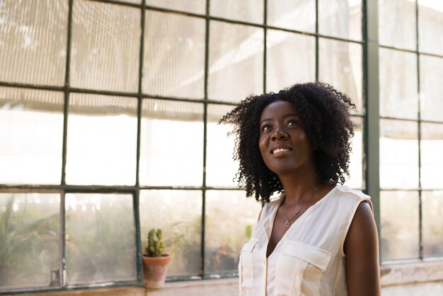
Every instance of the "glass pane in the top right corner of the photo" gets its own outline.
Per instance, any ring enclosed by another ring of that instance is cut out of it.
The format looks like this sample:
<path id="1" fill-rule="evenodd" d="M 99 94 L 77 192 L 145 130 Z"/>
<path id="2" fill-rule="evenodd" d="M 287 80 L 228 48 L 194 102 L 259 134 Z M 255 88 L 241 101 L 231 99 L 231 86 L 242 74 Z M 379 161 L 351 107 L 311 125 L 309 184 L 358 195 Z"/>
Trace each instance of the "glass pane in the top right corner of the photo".
<path id="1" fill-rule="evenodd" d="M 443 55 L 443 1 L 418 0 L 420 52 Z"/>

